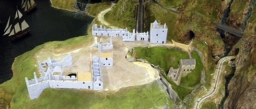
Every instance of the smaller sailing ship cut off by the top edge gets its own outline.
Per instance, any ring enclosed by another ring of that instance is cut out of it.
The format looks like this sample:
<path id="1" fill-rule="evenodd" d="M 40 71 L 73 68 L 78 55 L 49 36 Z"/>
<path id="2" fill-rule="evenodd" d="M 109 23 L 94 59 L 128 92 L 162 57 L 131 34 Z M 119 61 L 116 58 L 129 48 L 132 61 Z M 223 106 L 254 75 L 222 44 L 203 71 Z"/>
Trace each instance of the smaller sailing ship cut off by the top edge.
<path id="1" fill-rule="evenodd" d="M 25 12 L 28 13 L 37 6 L 34 0 L 22 0 L 21 8 L 25 8 Z"/>

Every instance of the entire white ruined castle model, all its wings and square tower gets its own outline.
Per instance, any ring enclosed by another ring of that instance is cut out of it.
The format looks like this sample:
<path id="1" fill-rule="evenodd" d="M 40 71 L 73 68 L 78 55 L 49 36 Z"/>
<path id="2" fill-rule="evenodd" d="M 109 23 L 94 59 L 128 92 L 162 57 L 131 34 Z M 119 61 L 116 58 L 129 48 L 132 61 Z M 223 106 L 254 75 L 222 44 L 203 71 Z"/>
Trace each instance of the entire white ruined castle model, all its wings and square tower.
<path id="1" fill-rule="evenodd" d="M 92 35 L 94 36 L 111 36 L 110 42 L 102 44 L 102 40 L 97 42 L 95 37 L 95 43 L 93 46 L 98 47 L 98 50 L 111 50 L 113 49 L 112 36 L 121 36 L 125 42 L 134 42 L 136 40 L 150 39 L 151 44 L 166 44 L 167 39 L 167 25 L 160 25 L 157 21 L 150 23 L 150 35 L 148 32 L 132 33 L 126 29 L 106 29 L 105 27 L 97 28 L 97 24 L 92 26 Z M 150 37 L 149 37 L 150 36 Z M 25 77 L 26 85 L 31 100 L 40 96 L 45 88 L 73 88 L 73 89 L 92 89 L 103 90 L 103 80 L 101 73 L 101 66 L 113 66 L 113 53 L 101 52 L 100 59 L 94 56 L 91 59 L 91 72 L 76 72 L 75 75 L 65 76 L 63 75 L 62 67 L 68 67 L 73 65 L 71 54 L 68 54 L 62 61 L 57 62 L 48 58 L 44 62 L 38 61 L 39 69 L 42 73 L 42 77 L 37 78 L 34 72 L 34 78 L 28 80 Z"/>

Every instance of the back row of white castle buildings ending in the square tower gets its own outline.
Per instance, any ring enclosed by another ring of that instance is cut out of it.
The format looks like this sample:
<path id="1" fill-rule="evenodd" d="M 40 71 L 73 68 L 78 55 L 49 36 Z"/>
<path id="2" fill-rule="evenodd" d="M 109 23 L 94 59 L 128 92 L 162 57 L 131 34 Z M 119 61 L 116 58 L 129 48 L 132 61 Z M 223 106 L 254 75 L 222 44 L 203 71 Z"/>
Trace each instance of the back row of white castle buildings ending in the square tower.
<path id="1" fill-rule="evenodd" d="M 106 29 L 97 27 L 97 24 L 92 26 L 91 33 L 93 36 L 121 36 L 124 42 L 134 42 L 136 40 L 148 40 L 150 39 L 151 44 L 166 44 L 168 28 L 166 23 L 160 25 L 156 20 L 154 23 L 150 23 L 150 34 L 148 32 L 144 33 L 135 33 L 135 29 L 130 33 L 125 29 Z M 150 35 L 150 36 L 149 36 Z"/>

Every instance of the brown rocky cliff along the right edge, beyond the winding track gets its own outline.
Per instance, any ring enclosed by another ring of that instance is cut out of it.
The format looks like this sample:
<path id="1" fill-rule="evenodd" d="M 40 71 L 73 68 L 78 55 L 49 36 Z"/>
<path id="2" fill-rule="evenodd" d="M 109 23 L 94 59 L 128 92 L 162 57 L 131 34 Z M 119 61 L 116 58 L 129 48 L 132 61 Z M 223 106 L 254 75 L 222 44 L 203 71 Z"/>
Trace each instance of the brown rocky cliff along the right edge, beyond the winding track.
<path id="1" fill-rule="evenodd" d="M 224 108 L 256 108 L 255 2 L 234 1 L 231 5 L 228 24 L 245 29 L 245 34 L 230 52 L 230 55 L 237 54 L 236 72 L 228 85 Z"/>

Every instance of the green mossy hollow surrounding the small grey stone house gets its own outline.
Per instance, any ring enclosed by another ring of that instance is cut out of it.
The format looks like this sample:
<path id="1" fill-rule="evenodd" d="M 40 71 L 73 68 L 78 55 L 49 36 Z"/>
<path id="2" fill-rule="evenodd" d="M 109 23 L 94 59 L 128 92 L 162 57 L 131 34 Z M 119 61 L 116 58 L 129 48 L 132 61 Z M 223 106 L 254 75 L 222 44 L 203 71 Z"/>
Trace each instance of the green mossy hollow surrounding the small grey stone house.
<path id="1" fill-rule="evenodd" d="M 164 70 L 163 76 L 172 85 L 172 89 L 176 91 L 180 99 L 183 99 L 192 89 L 200 85 L 201 72 L 203 70 L 203 64 L 199 55 L 196 52 L 192 52 L 193 58 L 196 59 L 195 69 L 188 75 L 181 78 L 180 86 L 176 85 L 169 77 L 166 76 L 170 67 L 174 69 L 178 68 L 180 59 L 189 59 L 187 52 L 178 50 L 176 48 L 163 48 L 163 47 L 135 47 L 134 55 L 137 59 L 145 59 L 146 61 L 159 65 Z"/>

